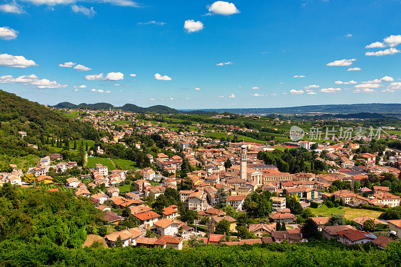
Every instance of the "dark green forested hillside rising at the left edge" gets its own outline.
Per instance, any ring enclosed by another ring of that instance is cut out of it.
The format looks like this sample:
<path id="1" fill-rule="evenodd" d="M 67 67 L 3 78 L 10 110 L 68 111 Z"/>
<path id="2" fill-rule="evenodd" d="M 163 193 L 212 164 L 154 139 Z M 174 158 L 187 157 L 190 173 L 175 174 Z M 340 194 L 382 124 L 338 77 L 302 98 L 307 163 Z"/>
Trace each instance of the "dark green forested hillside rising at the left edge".
<path id="1" fill-rule="evenodd" d="M 0 154 L 32 153 L 27 144 L 38 144 L 47 137 L 97 140 L 89 124 L 69 119 L 38 103 L 0 90 Z M 27 133 L 21 138 L 19 131 Z"/>

